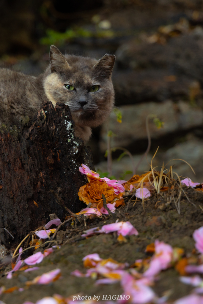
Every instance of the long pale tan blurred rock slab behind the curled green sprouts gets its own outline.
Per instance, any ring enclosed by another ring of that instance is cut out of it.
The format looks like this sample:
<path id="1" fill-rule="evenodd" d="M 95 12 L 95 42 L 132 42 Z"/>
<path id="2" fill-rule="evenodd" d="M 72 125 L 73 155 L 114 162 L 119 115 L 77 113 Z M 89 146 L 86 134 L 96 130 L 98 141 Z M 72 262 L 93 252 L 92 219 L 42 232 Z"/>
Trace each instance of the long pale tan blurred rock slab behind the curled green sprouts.
<path id="1" fill-rule="evenodd" d="M 122 113 L 122 123 L 117 123 L 115 114 L 111 114 L 101 129 L 100 149 L 107 148 L 108 130 L 116 135 L 112 137 L 112 147 L 126 147 L 138 139 L 147 137 L 145 121 L 149 114 L 155 114 L 164 122 L 163 128 L 157 129 L 152 119 L 149 120 L 151 138 L 158 138 L 176 130 L 187 130 L 203 123 L 203 111 L 191 107 L 189 103 L 179 101 L 174 104 L 171 100 L 163 103 L 148 102 L 138 105 L 123 105 L 119 108 Z"/>

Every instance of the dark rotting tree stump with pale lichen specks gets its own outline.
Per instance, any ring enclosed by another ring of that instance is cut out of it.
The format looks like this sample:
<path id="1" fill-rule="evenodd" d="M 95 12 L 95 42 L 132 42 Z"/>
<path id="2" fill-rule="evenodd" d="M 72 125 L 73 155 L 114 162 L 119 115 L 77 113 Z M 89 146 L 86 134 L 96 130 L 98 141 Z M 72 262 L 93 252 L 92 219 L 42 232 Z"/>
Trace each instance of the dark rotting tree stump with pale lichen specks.
<path id="1" fill-rule="evenodd" d="M 67 105 L 44 102 L 27 125 L 0 128 L 0 239 L 9 249 L 46 224 L 49 214 L 65 219 L 54 193 L 72 212 L 85 208 L 77 192 L 87 179 L 79 167 L 94 169 L 91 150 L 75 137 Z"/>

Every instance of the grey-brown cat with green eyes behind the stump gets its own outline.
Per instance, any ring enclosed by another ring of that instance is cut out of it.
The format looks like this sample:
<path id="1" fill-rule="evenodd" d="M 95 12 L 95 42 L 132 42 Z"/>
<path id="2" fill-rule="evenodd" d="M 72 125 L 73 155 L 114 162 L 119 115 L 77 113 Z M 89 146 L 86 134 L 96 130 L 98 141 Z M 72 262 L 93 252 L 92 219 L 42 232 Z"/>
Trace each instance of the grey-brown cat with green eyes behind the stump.
<path id="1" fill-rule="evenodd" d="M 32 119 L 43 101 L 54 106 L 63 102 L 75 122 L 75 136 L 87 143 L 92 128 L 101 125 L 114 106 L 114 62 L 114 55 L 100 60 L 63 55 L 52 45 L 50 64 L 38 77 L 1 68 L 0 123 L 18 125 L 25 116 Z"/>

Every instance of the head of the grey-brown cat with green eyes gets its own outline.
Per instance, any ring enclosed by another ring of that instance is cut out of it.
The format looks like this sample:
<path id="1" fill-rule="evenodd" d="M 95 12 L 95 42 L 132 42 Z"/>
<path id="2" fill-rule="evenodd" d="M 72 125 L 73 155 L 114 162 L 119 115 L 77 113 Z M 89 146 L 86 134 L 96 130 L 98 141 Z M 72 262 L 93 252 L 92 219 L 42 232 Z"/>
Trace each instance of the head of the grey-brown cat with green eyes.
<path id="1" fill-rule="evenodd" d="M 114 105 L 111 72 L 115 56 L 100 60 L 63 55 L 55 46 L 50 48 L 50 66 L 44 78 L 44 91 L 55 105 L 63 102 L 70 107 L 73 120 L 89 127 L 99 126 Z"/>

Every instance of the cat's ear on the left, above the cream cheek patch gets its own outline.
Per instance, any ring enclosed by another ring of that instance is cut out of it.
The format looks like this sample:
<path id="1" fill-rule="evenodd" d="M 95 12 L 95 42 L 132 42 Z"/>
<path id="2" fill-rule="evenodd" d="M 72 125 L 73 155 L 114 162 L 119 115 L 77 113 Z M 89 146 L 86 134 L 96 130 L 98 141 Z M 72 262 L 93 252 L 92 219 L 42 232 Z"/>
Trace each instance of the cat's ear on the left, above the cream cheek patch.
<path id="1" fill-rule="evenodd" d="M 69 67 L 68 62 L 65 60 L 65 57 L 54 45 L 51 45 L 50 47 L 49 57 L 51 63 L 51 73 L 60 73 Z"/>

